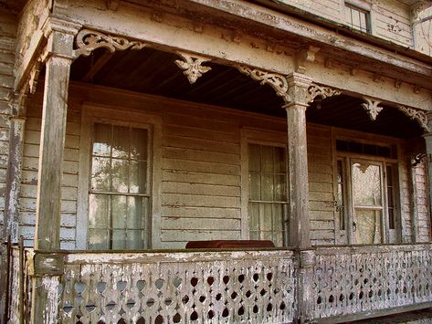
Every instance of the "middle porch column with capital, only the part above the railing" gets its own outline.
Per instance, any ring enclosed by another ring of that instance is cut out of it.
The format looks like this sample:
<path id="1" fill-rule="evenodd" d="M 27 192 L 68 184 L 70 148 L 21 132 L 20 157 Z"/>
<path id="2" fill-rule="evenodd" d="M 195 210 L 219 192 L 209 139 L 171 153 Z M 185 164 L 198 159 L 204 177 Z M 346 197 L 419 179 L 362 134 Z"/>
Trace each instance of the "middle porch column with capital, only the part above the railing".
<path id="1" fill-rule="evenodd" d="M 288 198 L 290 203 L 290 246 L 311 247 L 309 220 L 308 152 L 306 139 L 307 93 L 311 78 L 292 73 L 288 78 L 290 102 L 288 123 Z"/>

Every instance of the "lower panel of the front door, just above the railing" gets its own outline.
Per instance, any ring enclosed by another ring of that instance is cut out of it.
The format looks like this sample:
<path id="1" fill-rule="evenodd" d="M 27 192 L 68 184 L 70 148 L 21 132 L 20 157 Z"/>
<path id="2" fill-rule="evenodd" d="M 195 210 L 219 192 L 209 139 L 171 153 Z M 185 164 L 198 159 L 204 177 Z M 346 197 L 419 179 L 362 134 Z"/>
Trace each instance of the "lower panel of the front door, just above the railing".
<path id="1" fill-rule="evenodd" d="M 355 243 L 382 243 L 381 216 L 380 210 L 355 208 Z"/>

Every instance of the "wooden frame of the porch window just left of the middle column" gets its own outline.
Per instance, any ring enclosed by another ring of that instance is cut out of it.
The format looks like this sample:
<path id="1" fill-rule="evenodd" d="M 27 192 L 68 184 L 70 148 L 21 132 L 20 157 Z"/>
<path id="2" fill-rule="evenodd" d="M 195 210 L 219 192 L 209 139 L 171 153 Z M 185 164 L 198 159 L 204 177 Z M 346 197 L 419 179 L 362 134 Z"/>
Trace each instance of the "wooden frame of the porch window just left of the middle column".
<path id="1" fill-rule="evenodd" d="M 249 217 L 248 217 L 248 204 L 249 204 L 249 183 L 248 183 L 248 173 L 249 173 L 249 152 L 248 145 L 267 145 L 283 148 L 285 152 L 288 152 L 286 133 L 282 131 L 263 131 L 262 129 L 255 128 L 242 128 L 241 130 L 241 239 L 249 238 Z M 288 158 L 288 156 L 287 156 Z M 289 173 L 288 173 L 288 159 L 286 160 L 285 172 L 287 174 L 287 213 L 285 214 L 286 219 L 283 220 L 284 246 L 289 246 L 289 231 L 290 231 L 290 210 L 289 210 Z"/>

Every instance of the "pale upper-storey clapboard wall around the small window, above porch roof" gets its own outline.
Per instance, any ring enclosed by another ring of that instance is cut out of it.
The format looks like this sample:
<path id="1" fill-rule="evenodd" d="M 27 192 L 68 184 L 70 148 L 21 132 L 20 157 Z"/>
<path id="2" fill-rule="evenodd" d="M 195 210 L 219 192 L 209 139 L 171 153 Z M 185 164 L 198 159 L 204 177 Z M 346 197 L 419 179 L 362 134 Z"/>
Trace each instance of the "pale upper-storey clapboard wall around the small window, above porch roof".
<path id="1" fill-rule="evenodd" d="M 280 0 L 280 3 L 344 24 L 344 3 L 356 5 L 371 13 L 372 34 L 398 45 L 413 46 L 409 7 L 394 0 Z"/>

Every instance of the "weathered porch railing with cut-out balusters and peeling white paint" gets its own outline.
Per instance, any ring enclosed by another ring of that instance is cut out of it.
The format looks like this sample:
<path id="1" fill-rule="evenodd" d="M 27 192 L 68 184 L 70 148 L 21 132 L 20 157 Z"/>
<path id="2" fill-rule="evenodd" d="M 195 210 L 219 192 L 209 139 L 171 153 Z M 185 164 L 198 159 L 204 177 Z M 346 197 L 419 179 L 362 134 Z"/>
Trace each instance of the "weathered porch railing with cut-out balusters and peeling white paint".
<path id="1" fill-rule="evenodd" d="M 432 307 L 431 244 L 60 255 L 63 275 L 41 288 L 65 324 L 332 323 Z"/>

